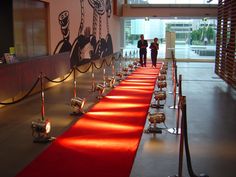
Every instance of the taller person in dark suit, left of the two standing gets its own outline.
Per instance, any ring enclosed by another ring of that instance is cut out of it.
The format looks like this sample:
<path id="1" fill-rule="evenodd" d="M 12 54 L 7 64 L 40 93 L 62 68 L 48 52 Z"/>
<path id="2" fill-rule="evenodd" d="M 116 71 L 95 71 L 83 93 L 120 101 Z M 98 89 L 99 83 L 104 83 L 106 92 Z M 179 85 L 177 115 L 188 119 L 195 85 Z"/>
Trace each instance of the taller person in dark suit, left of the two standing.
<path id="1" fill-rule="evenodd" d="M 139 58 L 140 58 L 140 64 L 141 66 L 146 67 L 146 60 L 147 60 L 147 47 L 148 47 L 148 42 L 147 40 L 144 40 L 144 35 L 140 35 L 140 40 L 138 41 L 138 46 L 139 48 Z"/>

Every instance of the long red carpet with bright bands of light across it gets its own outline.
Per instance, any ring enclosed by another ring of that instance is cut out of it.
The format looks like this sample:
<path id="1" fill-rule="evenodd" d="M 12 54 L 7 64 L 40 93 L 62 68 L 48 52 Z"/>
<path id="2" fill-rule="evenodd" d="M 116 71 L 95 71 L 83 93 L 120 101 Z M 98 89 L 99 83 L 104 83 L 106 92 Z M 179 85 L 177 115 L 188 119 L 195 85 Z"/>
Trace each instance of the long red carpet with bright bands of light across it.
<path id="1" fill-rule="evenodd" d="M 129 177 L 158 73 L 137 69 L 17 177 Z"/>

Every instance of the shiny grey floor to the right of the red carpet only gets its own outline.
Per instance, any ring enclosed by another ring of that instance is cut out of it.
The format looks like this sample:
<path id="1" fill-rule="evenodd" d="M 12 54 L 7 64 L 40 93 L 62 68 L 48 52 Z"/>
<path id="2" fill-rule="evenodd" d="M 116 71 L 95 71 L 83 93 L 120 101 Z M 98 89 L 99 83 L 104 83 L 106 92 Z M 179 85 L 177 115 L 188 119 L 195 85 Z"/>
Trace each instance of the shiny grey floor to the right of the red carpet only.
<path id="1" fill-rule="evenodd" d="M 195 173 L 235 177 L 236 91 L 214 74 L 214 64 L 177 65 L 178 74 L 183 77 L 183 95 L 187 98 L 189 147 Z M 171 86 L 170 80 L 168 83 Z M 170 105 L 173 105 L 172 95 L 168 95 L 163 111 L 167 126 L 176 127 L 176 111 L 169 109 Z M 166 131 L 143 134 L 130 177 L 177 174 L 178 151 L 179 136 Z M 183 167 L 184 176 L 189 176 L 185 157 Z"/>

